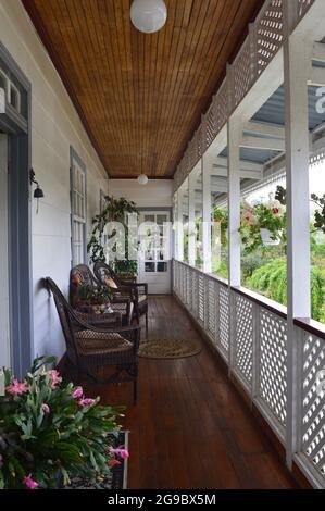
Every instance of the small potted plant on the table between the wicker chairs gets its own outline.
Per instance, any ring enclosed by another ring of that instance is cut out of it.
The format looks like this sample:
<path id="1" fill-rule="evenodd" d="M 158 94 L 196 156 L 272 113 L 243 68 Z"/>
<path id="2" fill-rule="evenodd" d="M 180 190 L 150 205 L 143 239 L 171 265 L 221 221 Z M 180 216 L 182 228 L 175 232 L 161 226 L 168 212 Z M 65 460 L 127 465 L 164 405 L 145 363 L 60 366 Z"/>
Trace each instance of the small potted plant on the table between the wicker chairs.
<path id="1" fill-rule="evenodd" d="M 92 287 L 87 284 L 78 284 L 76 287 L 77 302 L 76 308 L 82 312 L 92 312 L 95 314 L 104 314 L 113 312 L 110 303 L 112 290 L 109 287 Z"/>

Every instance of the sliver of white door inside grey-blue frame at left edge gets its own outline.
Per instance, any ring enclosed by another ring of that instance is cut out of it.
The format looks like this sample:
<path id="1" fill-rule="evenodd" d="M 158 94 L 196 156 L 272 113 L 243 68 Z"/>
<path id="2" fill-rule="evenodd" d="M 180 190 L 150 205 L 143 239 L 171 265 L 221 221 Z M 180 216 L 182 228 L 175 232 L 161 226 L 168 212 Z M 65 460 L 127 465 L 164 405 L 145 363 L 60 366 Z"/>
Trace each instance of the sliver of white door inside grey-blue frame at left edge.
<path id="1" fill-rule="evenodd" d="M 8 137 L 0 133 L 0 367 L 11 366 L 8 221 Z"/>

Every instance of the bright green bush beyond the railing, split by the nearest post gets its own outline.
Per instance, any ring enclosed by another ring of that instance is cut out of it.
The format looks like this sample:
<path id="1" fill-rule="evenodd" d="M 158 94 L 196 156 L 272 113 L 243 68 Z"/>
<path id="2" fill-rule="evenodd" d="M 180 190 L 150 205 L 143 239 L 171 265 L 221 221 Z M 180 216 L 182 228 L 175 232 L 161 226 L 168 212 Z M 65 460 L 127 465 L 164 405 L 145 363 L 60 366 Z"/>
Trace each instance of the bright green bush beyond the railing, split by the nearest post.
<path id="1" fill-rule="evenodd" d="M 311 267 L 311 300 L 312 317 L 316 321 L 325 320 L 324 292 L 325 272 L 318 266 Z M 252 273 L 248 279 L 248 287 L 254 291 L 271 298 L 272 300 L 287 304 L 287 262 L 285 259 L 275 259 L 264 264 Z"/>

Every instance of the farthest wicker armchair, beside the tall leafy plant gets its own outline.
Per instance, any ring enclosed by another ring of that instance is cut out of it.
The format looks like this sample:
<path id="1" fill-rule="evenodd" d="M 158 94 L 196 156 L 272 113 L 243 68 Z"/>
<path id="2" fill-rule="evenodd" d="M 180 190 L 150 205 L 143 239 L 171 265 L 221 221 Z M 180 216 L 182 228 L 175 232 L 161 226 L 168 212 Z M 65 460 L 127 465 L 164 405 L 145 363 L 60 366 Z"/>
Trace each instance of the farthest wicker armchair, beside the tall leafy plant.
<path id="1" fill-rule="evenodd" d="M 128 288 L 134 296 L 135 315 L 138 323 L 140 316 L 146 314 L 146 332 L 148 335 L 148 284 L 121 281 L 113 270 L 104 262 L 97 262 L 93 265 L 96 278 L 103 285 L 108 285 L 108 279 L 113 279 L 117 286 L 116 294 L 123 294 L 123 289 Z M 122 284 L 123 282 L 123 284 Z"/>

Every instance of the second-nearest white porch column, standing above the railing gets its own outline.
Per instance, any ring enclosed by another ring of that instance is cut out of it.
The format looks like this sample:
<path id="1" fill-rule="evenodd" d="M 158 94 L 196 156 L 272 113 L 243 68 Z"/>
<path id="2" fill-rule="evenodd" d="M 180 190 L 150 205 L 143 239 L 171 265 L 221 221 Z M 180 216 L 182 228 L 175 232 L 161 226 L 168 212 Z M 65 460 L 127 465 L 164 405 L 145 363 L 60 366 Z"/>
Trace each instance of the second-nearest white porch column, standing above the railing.
<path id="1" fill-rule="evenodd" d="M 240 286 L 240 137 L 241 123 L 228 120 L 228 215 L 229 286 Z"/>

